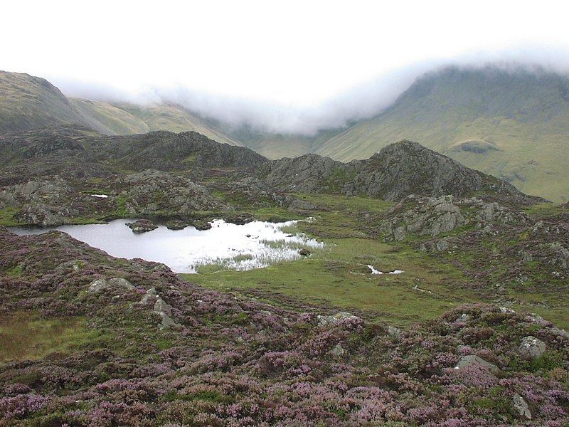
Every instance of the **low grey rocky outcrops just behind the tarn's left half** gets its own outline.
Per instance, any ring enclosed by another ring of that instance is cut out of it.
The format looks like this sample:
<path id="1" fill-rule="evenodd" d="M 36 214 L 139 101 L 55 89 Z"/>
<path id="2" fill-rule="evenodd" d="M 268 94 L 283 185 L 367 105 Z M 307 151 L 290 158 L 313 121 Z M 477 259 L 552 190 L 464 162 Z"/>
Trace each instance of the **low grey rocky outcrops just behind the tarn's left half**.
<path id="1" fill-rule="evenodd" d="M 191 216 L 196 211 L 233 210 L 211 196 L 205 186 L 151 169 L 110 178 L 105 187 L 106 194 L 92 194 L 60 176 L 4 186 L 0 188 L 0 209 L 8 209 L 18 223 L 38 226 L 107 216 Z"/>

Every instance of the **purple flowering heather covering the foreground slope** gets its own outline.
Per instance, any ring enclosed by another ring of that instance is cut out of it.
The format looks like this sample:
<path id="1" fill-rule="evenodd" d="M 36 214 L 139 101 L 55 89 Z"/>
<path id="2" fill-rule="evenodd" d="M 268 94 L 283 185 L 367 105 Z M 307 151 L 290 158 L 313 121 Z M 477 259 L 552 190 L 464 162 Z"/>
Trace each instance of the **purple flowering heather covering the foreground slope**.
<path id="1" fill-rule="evenodd" d="M 569 338 L 528 313 L 464 305 L 390 335 L 360 317 L 319 325 L 313 313 L 205 290 L 63 233 L 0 230 L 0 251 L 3 314 L 74 317 L 89 334 L 0 364 L 0 426 L 569 423 Z M 134 288 L 87 292 L 97 278 Z M 180 328 L 159 329 L 155 301 L 141 302 L 151 288 Z M 546 345 L 543 355 L 519 353 L 528 336 Z M 496 369 L 457 369 L 463 357 Z"/>

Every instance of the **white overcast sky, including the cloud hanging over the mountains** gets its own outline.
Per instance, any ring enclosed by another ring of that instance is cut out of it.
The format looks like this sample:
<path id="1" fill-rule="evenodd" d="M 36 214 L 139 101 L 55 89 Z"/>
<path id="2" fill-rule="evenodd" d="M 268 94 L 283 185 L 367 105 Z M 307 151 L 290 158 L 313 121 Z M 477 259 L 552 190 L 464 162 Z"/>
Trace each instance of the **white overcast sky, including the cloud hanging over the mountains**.
<path id="1" fill-rule="evenodd" d="M 0 69 L 66 95 L 171 100 L 312 131 L 448 63 L 569 68 L 563 1 L 6 1 Z"/>

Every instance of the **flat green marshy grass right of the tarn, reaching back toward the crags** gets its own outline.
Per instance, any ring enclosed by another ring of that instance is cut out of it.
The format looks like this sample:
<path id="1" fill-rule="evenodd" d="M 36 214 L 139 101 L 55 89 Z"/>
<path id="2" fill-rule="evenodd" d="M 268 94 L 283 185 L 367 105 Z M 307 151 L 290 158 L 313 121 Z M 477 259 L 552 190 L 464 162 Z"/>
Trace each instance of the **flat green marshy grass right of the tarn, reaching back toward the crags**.
<path id="1" fill-rule="evenodd" d="M 465 280 L 449 263 L 433 260 L 413 250 L 408 243 L 385 243 L 372 238 L 373 218 L 393 202 L 366 197 L 304 194 L 302 199 L 319 206 L 313 221 L 299 221 L 287 228 L 290 234 L 303 232 L 323 243 L 306 247 L 311 255 L 267 268 L 229 271 L 206 266 L 216 274 L 184 275 L 198 285 L 217 290 L 233 290 L 256 295 L 266 302 L 304 310 L 317 303 L 341 310 L 366 312 L 373 320 L 405 326 L 431 319 L 465 302 L 477 302 L 472 292 L 451 284 Z M 272 248 L 295 248 L 287 241 L 264 242 Z M 367 265 L 381 271 L 404 270 L 400 275 L 372 275 Z M 417 288 L 430 292 L 421 292 Z M 290 301 L 297 301 L 291 306 Z"/>

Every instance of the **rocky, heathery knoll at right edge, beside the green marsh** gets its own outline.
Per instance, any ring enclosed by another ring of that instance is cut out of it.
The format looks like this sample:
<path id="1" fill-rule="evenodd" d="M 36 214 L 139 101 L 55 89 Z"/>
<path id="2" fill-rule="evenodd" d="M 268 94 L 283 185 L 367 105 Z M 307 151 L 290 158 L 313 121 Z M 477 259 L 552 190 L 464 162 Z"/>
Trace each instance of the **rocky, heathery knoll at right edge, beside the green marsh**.
<path id="1" fill-rule="evenodd" d="M 569 214 L 531 216 L 496 202 L 407 196 L 376 219 L 386 241 L 409 241 L 457 265 L 472 286 L 511 303 L 511 290 L 564 295 L 569 288 Z M 553 297 L 540 304 L 552 306 Z"/>

